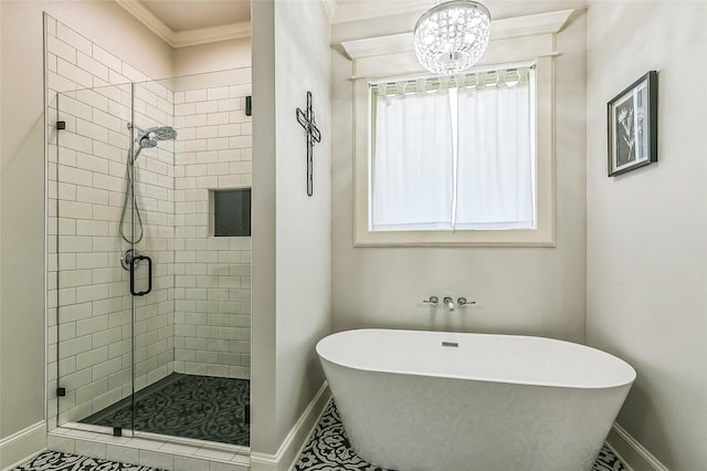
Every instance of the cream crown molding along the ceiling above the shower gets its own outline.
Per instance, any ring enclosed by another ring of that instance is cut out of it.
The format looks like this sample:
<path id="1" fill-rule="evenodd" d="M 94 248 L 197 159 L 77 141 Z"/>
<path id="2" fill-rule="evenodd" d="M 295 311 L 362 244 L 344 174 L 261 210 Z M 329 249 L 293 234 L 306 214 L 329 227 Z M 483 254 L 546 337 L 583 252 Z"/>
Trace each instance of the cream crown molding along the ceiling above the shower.
<path id="1" fill-rule="evenodd" d="M 207 44 L 217 41 L 251 36 L 250 21 L 223 24 L 221 27 L 213 28 L 173 31 L 159 18 L 155 17 L 152 12 L 143 7 L 137 0 L 115 0 L 115 2 L 172 48 L 184 48 L 189 45 Z"/>

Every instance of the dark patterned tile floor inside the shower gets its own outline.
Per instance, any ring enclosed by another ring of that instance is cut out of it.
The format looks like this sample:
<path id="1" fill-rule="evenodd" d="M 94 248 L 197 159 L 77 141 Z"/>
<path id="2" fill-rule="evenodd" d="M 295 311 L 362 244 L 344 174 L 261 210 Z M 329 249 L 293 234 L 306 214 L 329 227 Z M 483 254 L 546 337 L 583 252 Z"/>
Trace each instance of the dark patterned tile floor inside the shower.
<path id="1" fill-rule="evenodd" d="M 135 430 L 247 447 L 250 389 L 247 379 L 172 373 L 136 394 Z M 82 422 L 131 429 L 131 420 L 128 398 Z"/>

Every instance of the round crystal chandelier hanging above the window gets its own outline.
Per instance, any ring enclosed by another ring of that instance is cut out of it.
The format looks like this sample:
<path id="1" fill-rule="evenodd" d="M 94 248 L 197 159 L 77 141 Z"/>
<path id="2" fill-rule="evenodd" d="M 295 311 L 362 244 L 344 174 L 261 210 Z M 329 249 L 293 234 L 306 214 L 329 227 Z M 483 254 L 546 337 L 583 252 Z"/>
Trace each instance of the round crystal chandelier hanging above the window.
<path id="1" fill-rule="evenodd" d="M 437 74 L 465 71 L 479 60 L 488 45 L 488 9 L 472 0 L 435 3 L 415 24 L 418 60 Z"/>

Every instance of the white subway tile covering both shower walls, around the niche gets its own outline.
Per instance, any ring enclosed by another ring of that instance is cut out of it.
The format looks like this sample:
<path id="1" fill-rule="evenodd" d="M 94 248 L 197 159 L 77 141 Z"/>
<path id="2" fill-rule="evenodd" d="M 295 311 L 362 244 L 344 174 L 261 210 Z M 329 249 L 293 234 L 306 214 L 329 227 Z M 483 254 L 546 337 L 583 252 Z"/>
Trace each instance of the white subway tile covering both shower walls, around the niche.
<path id="1" fill-rule="evenodd" d="M 147 82 L 133 95 L 129 82 L 145 74 L 46 20 L 50 429 L 129 396 L 133 334 L 136 390 L 172 371 L 250 378 L 251 241 L 209 232 L 209 190 L 252 181 L 250 84 L 172 92 Z M 152 292 L 140 297 L 120 265 L 128 123 L 178 132 L 135 165 L 137 249 L 152 259 Z"/>

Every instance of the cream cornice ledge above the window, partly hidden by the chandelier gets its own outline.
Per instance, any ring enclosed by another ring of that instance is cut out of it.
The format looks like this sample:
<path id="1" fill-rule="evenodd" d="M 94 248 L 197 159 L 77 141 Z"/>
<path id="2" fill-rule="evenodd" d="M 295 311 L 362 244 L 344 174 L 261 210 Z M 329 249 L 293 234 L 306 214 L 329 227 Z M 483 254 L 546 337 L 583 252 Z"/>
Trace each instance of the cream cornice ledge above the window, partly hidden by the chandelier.
<path id="1" fill-rule="evenodd" d="M 564 27 L 573 11 L 574 10 L 561 10 L 549 13 L 492 20 L 490 41 L 557 33 Z M 341 43 L 341 46 L 349 55 L 349 59 L 354 60 L 414 51 L 412 31 L 386 36 L 345 41 Z"/>

